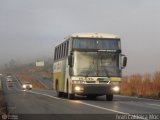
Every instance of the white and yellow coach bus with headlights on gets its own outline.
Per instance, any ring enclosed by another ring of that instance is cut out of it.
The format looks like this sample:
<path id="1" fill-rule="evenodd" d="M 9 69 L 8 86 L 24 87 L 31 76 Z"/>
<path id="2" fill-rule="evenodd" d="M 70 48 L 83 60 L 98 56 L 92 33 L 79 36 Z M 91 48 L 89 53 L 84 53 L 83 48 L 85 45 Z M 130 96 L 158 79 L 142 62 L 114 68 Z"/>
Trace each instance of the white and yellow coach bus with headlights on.
<path id="1" fill-rule="evenodd" d="M 122 54 L 118 36 L 72 34 L 54 49 L 53 89 L 57 97 L 105 95 L 107 101 L 112 101 L 113 94 L 120 90 L 126 64 L 127 57 Z"/>

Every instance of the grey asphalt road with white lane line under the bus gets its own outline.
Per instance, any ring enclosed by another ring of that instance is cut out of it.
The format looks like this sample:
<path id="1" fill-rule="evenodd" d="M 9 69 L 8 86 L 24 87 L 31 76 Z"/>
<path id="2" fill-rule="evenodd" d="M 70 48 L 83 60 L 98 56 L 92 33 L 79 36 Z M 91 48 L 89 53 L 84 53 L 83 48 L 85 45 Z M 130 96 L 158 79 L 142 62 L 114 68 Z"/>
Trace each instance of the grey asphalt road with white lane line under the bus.
<path id="1" fill-rule="evenodd" d="M 118 95 L 114 96 L 113 101 L 106 101 L 105 96 L 98 97 L 95 100 L 76 96 L 75 100 L 68 100 L 54 97 L 55 93 L 52 90 L 23 91 L 18 80 L 12 79 L 13 87 L 8 86 L 6 77 L 2 79 L 5 98 L 9 114 L 22 115 L 21 119 L 25 119 L 27 115 L 32 116 L 31 118 L 41 116 L 41 119 L 44 119 L 44 116 L 48 119 L 56 117 L 57 120 L 62 118 L 70 120 L 80 118 L 83 120 L 89 119 L 91 116 L 92 120 L 105 119 L 108 116 L 111 117 L 110 119 L 133 119 L 134 115 L 138 117 L 136 119 L 150 119 L 151 117 L 157 118 L 156 120 L 160 119 L 159 100 Z M 124 117 L 121 115 L 124 115 Z M 83 118 L 82 116 L 86 117 Z"/>

